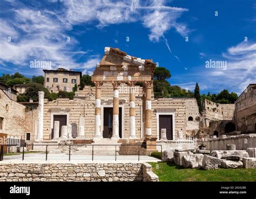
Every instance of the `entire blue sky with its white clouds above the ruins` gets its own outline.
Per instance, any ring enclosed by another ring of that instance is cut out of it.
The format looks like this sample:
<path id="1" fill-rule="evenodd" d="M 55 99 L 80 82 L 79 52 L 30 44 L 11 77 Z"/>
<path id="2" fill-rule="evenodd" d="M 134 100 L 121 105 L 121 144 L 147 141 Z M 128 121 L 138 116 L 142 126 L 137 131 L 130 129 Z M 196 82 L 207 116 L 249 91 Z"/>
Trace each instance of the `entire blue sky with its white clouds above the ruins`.
<path id="1" fill-rule="evenodd" d="M 191 91 L 198 82 L 201 93 L 239 94 L 256 83 L 253 0 L 2 0 L 0 8 L 0 75 L 43 75 L 30 68 L 35 59 L 91 74 L 110 46 L 153 59 L 171 85 Z M 226 70 L 207 68 L 210 60 Z"/>

